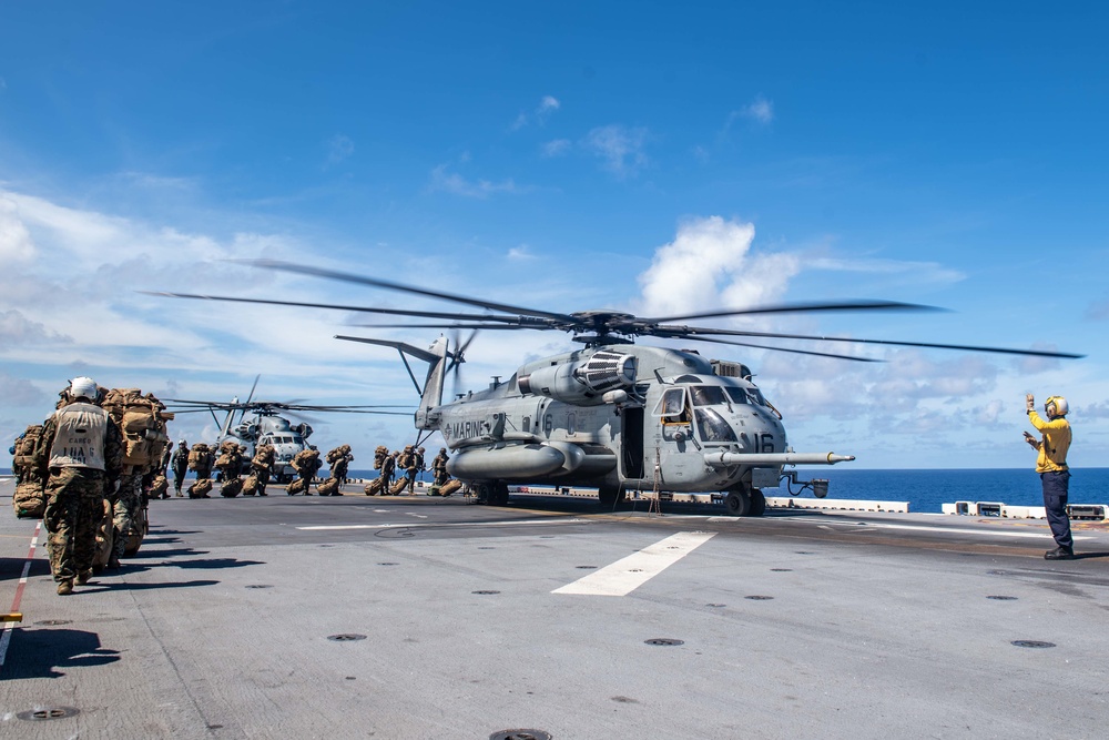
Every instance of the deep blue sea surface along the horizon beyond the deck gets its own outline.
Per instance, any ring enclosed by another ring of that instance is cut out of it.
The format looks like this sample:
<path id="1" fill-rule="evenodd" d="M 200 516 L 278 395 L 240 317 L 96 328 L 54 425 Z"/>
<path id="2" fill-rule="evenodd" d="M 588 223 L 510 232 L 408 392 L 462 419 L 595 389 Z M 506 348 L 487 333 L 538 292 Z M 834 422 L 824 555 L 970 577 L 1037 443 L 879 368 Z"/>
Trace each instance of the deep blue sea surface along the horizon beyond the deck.
<path id="1" fill-rule="evenodd" d="M 0 474 L 11 469 L 0 468 Z M 801 477 L 827 478 L 828 498 L 872 501 L 908 501 L 908 510 L 939 514 L 943 504 L 994 501 L 1009 506 L 1042 506 L 1039 476 L 1030 468 L 955 470 L 859 470 L 854 468 L 802 468 Z M 350 470 L 352 478 L 376 478 L 376 470 Z M 430 480 L 430 474 L 421 478 Z M 812 497 L 798 486 L 763 488 L 767 496 Z M 1109 504 L 1109 468 L 1071 468 L 1070 504 Z"/>

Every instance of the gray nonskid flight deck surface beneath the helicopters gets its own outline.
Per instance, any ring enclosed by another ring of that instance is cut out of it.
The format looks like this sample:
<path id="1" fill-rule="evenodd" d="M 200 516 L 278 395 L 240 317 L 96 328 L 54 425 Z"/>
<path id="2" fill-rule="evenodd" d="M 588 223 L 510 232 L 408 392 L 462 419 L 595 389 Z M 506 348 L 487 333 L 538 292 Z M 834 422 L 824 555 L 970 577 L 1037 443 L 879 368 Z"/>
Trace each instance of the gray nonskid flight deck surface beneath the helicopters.
<path id="1" fill-rule="evenodd" d="M 1046 534 L 964 531 L 1007 523 L 576 506 L 155 501 L 139 555 L 64 598 L 42 535 L 0 734 L 1102 737 L 1103 528 L 1078 531 L 1095 557 L 1046 562 Z M 3 610 L 34 525 L 0 518 Z M 691 530 L 713 536 L 627 596 L 551 592 Z M 19 718 L 35 708 L 78 713 Z"/>

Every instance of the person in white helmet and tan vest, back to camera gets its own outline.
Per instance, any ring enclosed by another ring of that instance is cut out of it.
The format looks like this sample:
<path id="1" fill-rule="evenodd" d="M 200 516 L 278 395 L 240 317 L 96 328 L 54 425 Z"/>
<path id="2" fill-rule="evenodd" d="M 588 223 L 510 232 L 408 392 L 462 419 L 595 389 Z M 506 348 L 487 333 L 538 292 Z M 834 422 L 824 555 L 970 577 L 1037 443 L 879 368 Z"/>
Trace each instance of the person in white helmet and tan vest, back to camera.
<path id="1" fill-rule="evenodd" d="M 70 385 L 70 403 L 43 423 L 33 465 L 47 477 L 47 549 L 58 594 L 73 591 L 74 579 L 88 582 L 103 516 L 104 494 L 123 469 L 123 437 L 108 412 L 93 402 L 99 393 L 90 378 Z"/>

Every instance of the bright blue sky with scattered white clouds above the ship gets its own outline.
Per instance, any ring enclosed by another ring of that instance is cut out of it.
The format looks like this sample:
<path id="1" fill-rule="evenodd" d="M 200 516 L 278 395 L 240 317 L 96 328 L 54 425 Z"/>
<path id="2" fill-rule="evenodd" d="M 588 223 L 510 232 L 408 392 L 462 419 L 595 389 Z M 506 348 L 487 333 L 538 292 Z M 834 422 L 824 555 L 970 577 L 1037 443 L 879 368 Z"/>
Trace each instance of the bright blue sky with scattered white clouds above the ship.
<path id="1" fill-rule="evenodd" d="M 1109 11 L 965 4 L 4 3 L 0 434 L 79 373 L 415 401 L 395 353 L 330 338 L 342 312 L 134 293 L 442 308 L 224 262 L 265 256 L 556 311 L 937 305 L 739 325 L 1088 357 L 703 352 L 755 369 L 798 450 L 1020 467 L 1024 394 L 1061 393 L 1072 464 L 1103 466 Z M 468 386 L 570 346 L 489 334 Z M 316 428 L 364 458 L 414 435 Z"/>

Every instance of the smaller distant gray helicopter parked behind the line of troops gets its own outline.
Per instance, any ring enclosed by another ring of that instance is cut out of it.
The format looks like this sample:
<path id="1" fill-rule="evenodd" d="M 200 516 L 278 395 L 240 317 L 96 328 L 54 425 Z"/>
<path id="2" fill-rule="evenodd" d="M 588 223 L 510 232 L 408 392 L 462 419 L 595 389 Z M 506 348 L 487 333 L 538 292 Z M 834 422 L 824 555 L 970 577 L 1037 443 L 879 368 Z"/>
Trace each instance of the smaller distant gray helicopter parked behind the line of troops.
<path id="1" fill-rule="evenodd" d="M 258 376 L 261 377 L 261 376 Z M 208 412 L 212 418 L 220 425 L 220 434 L 216 438 L 216 447 L 226 440 L 232 440 L 241 447 L 245 447 L 243 453 L 243 473 L 250 473 L 251 458 L 254 457 L 256 445 L 273 445 L 274 481 L 278 484 L 288 483 L 296 476 L 292 462 L 296 454 L 304 449 L 315 449 L 315 446 L 307 442 L 312 436 L 312 426 L 307 422 L 293 423 L 282 416 L 297 416 L 308 413 L 342 413 L 342 414 L 391 414 L 408 416 L 406 412 L 381 410 L 386 408 L 398 408 L 397 406 L 317 406 L 305 405 L 296 402 L 278 401 L 254 401 L 254 391 L 257 388 L 258 377 L 254 378 L 254 386 L 245 402 L 240 402 L 238 397 L 231 402 L 218 401 L 191 401 L 185 398 L 166 398 L 170 407 L 177 414 L 191 412 Z M 223 422 L 216 416 L 216 412 L 226 412 Z M 237 414 L 237 419 L 236 419 Z M 250 415 L 250 416 L 248 416 Z"/>

